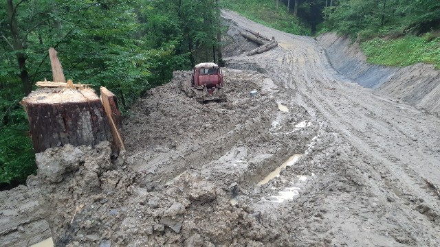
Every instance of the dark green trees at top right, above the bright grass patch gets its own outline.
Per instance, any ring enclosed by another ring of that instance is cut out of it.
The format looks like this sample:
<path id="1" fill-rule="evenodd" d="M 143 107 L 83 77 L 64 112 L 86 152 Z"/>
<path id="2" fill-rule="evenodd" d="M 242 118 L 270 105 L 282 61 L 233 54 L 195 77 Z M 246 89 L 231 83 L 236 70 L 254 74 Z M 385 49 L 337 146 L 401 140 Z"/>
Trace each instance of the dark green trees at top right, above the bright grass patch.
<path id="1" fill-rule="evenodd" d="M 345 0 L 324 10 L 326 25 L 352 38 L 421 34 L 440 27 L 438 0 Z"/>

